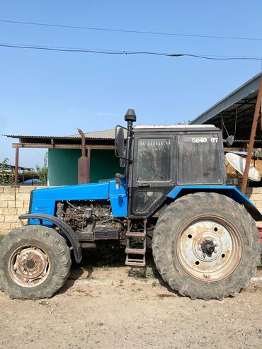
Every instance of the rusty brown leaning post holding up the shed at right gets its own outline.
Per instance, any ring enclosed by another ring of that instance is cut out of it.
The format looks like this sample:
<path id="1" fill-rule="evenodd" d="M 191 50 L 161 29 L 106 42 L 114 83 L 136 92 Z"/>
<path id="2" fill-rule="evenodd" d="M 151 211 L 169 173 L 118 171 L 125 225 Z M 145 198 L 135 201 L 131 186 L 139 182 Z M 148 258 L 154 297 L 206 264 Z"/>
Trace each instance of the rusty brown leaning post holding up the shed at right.
<path id="1" fill-rule="evenodd" d="M 255 113 L 254 113 L 254 118 L 253 118 L 253 123 L 251 128 L 251 135 L 249 140 L 249 150 L 246 156 L 246 167 L 244 171 L 243 183 L 241 188 L 241 192 L 243 194 L 246 194 L 247 178 L 249 176 L 249 168 L 251 163 L 252 151 L 254 148 L 254 142 L 256 137 L 256 127 L 258 125 L 259 111 L 261 107 L 261 98 L 262 98 L 262 75 L 260 78 L 260 86 L 258 88 L 258 97 L 256 98 L 256 108 L 255 108 Z"/>

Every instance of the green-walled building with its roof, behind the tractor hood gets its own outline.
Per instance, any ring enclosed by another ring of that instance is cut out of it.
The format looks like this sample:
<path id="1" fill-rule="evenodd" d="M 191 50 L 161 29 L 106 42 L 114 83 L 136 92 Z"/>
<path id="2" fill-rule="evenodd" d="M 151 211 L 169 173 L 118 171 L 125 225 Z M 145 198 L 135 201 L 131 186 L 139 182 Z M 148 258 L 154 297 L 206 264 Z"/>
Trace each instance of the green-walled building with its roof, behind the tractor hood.
<path id="1" fill-rule="evenodd" d="M 85 133 L 86 155 L 89 163 L 89 183 L 114 178 L 123 172 L 115 156 L 115 130 Z M 44 148 L 48 151 L 48 185 L 74 185 L 78 183 L 78 159 L 81 157 L 81 136 L 16 136 L 16 162 L 21 148 Z M 26 151 L 26 149 L 23 149 Z"/>

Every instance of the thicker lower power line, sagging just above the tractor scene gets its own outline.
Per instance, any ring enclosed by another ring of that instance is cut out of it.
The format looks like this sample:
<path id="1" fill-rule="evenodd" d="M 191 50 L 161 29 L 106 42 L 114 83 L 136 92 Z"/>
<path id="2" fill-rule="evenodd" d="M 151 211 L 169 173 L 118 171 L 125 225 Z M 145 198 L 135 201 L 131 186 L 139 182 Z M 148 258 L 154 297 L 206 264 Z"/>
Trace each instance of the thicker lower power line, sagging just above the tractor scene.
<path id="1" fill-rule="evenodd" d="M 165 57 L 195 57 L 200 59 L 212 60 L 261 60 L 262 57 L 246 57 L 246 56 L 215 56 L 215 55 L 194 55 L 190 53 L 164 53 L 164 52 L 148 52 L 148 51 L 128 51 L 128 50 L 105 50 L 105 49 L 91 49 L 78 47 L 55 47 L 55 46 L 39 46 L 39 45 L 25 45 L 13 43 L 0 43 L 0 47 L 12 47 L 28 50 L 47 50 L 60 52 L 81 52 L 81 53 L 96 53 L 101 55 L 156 55 Z"/>

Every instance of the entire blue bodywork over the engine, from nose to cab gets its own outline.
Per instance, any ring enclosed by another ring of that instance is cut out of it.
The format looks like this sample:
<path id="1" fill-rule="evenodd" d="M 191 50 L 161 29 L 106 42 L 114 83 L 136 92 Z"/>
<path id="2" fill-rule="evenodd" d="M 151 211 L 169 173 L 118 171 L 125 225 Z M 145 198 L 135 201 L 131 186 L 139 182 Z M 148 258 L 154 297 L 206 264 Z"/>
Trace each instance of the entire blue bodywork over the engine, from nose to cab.
<path id="1" fill-rule="evenodd" d="M 33 190 L 30 213 L 55 215 L 55 204 L 62 200 L 110 200 L 114 217 L 127 215 L 127 195 L 125 182 L 120 182 L 117 190 L 115 180 L 102 183 L 70 185 L 57 188 Z M 30 224 L 39 224 L 37 219 L 31 219 Z M 52 226 L 50 222 L 44 222 Z"/>

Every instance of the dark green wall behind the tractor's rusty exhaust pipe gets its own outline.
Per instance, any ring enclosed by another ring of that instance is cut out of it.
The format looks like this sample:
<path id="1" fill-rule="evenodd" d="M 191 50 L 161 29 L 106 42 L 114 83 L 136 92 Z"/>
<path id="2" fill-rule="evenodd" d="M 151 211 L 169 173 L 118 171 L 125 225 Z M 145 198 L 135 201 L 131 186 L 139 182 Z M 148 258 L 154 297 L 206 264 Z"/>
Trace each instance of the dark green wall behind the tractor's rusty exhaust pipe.
<path id="1" fill-rule="evenodd" d="M 77 184 L 77 164 L 80 149 L 48 149 L 48 184 Z M 115 173 L 123 173 L 119 159 L 113 150 L 91 150 L 90 182 L 113 178 Z"/>

